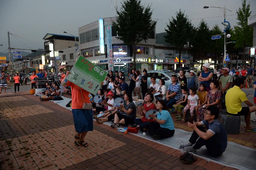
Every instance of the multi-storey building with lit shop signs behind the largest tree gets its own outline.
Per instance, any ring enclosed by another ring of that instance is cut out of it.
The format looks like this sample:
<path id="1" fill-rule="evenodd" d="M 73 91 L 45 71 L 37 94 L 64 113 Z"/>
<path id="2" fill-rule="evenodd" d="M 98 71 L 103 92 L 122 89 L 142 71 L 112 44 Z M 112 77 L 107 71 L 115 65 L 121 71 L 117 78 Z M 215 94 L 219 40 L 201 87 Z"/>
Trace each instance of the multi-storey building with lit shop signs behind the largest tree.
<path id="1" fill-rule="evenodd" d="M 112 25 L 112 20 L 116 18 L 103 18 L 103 27 Z M 83 57 L 92 63 L 98 65 L 102 69 L 107 69 L 107 42 L 104 33 L 104 53 L 101 53 L 99 43 L 99 21 L 92 22 L 88 25 L 78 28 L 79 33 L 79 49 Z M 132 46 L 124 44 L 123 41 L 116 38 L 117 34 L 112 30 L 112 49 L 114 70 L 123 71 L 125 75 L 130 72 L 133 66 Z M 149 39 L 140 42 L 136 46 L 136 68 L 137 70 L 151 70 L 155 66 L 154 46 L 155 46 L 155 29 L 149 35 Z"/>

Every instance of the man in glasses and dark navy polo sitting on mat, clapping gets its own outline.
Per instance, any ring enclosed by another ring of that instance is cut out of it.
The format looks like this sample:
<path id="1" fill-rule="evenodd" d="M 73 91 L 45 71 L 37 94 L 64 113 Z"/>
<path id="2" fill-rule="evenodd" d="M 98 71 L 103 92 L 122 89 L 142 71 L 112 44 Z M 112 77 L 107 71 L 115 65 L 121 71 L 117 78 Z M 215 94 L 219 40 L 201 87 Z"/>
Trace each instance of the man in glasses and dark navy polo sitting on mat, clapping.
<path id="1" fill-rule="evenodd" d="M 223 125 L 218 121 L 218 116 L 218 108 L 209 106 L 206 108 L 203 121 L 194 122 L 194 124 L 188 122 L 188 127 L 194 131 L 188 144 L 184 145 L 185 151 L 194 151 L 204 145 L 207 151 L 213 155 L 221 155 L 225 151 L 227 148 L 227 133 Z M 206 126 L 207 131 L 203 126 Z"/>

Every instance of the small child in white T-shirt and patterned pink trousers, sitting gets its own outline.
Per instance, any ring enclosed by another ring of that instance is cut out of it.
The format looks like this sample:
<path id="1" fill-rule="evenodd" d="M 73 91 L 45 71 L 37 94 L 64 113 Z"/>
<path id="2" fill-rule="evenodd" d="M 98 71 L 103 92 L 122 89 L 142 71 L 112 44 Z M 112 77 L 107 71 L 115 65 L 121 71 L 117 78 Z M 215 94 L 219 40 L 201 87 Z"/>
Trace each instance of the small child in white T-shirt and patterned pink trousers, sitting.
<path id="1" fill-rule="evenodd" d="M 186 118 L 186 112 L 188 109 L 190 109 L 190 119 L 192 119 L 192 122 L 194 120 L 194 110 L 197 106 L 199 97 L 196 94 L 197 90 L 194 87 L 189 88 L 189 96 L 188 96 L 188 104 L 185 106 L 183 110 L 183 119 L 180 122 L 185 122 Z"/>

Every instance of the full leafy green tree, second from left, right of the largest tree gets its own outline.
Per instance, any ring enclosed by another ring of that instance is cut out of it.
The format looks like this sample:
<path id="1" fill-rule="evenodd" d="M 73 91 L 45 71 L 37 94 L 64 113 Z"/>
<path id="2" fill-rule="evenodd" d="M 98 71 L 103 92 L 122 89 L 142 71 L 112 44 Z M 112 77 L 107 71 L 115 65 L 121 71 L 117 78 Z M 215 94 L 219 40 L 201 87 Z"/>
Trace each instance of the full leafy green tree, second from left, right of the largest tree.
<path id="1" fill-rule="evenodd" d="M 165 31 L 167 32 L 165 41 L 169 44 L 172 44 L 179 50 L 179 67 L 181 61 L 181 51 L 184 48 L 185 43 L 190 40 L 190 37 L 193 33 L 193 26 L 188 19 L 188 16 L 184 14 L 179 9 L 179 12 L 176 11 L 176 19 L 169 19 L 169 25 L 167 24 Z"/>

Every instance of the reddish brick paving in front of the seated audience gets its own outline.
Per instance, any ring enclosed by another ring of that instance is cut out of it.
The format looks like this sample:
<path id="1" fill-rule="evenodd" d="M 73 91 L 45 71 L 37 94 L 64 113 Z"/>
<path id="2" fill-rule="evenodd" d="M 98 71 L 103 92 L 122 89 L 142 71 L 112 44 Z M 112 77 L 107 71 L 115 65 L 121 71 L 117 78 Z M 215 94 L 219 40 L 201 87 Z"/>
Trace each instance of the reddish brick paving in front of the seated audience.
<path id="1" fill-rule="evenodd" d="M 0 100 L 0 169 L 232 169 L 199 157 L 186 165 L 179 150 L 96 122 L 89 147 L 76 147 L 70 110 L 33 95 Z"/>

